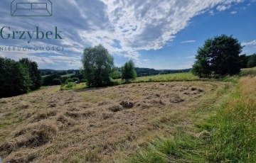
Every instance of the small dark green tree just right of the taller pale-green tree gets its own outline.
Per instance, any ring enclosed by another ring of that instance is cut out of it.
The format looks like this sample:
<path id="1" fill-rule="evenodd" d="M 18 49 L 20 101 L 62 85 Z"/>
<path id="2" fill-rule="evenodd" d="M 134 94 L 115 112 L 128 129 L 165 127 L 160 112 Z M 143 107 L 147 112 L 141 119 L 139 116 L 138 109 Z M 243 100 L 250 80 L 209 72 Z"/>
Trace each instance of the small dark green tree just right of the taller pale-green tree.
<path id="1" fill-rule="evenodd" d="M 135 65 L 132 60 L 129 60 L 121 67 L 122 79 L 129 81 L 129 79 L 136 79 L 137 73 L 135 72 Z"/>

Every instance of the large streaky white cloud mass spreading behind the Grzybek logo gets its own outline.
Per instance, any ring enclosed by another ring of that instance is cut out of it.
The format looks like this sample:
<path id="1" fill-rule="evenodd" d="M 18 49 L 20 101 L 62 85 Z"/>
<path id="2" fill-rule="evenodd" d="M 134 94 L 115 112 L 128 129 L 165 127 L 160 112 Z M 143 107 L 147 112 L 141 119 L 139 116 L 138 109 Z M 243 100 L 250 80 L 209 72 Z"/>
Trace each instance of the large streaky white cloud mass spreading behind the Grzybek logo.
<path id="1" fill-rule="evenodd" d="M 63 40 L 32 40 L 31 47 L 64 47 L 64 51 L 5 52 L 1 56 L 29 57 L 40 67 L 78 68 L 85 47 L 102 44 L 110 54 L 140 62 L 139 50 L 159 50 L 176 38 L 194 16 L 217 9 L 224 11 L 243 0 L 52 0 L 51 17 L 11 17 L 9 0 L 1 0 L 0 27 L 48 31 L 58 27 Z M 181 43 L 193 43 L 194 40 Z M 3 40 L 0 47 L 28 46 L 25 40 Z M 42 55 L 43 54 L 43 55 Z"/>

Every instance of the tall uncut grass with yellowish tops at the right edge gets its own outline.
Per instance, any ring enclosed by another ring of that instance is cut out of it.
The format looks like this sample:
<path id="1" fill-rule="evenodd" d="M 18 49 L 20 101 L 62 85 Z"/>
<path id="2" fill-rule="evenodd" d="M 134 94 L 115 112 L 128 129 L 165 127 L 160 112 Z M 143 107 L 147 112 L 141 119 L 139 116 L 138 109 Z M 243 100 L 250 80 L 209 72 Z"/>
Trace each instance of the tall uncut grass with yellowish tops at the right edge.
<path id="1" fill-rule="evenodd" d="M 256 77 L 242 78 L 212 119 L 211 162 L 256 162 Z"/>

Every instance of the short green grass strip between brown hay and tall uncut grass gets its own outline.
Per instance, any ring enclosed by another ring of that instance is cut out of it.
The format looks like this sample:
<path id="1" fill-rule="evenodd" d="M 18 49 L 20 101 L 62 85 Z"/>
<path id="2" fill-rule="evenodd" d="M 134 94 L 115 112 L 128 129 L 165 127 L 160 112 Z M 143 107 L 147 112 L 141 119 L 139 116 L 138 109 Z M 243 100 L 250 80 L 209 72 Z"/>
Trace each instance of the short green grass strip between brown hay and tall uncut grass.
<path id="1" fill-rule="evenodd" d="M 213 89 L 218 88 L 218 84 L 213 84 Z M 208 132 L 209 124 L 206 123 L 215 114 L 216 107 L 220 106 L 228 94 L 233 90 L 234 84 L 227 83 L 222 89 L 218 89 L 216 94 L 205 94 L 200 105 L 187 111 L 187 118 L 191 118 L 189 125 L 178 126 L 174 134 L 167 137 L 155 137 L 144 147 L 140 147 L 137 152 L 131 154 L 127 159 L 118 162 L 208 162 Z M 172 123 L 166 123 L 166 127 Z"/>

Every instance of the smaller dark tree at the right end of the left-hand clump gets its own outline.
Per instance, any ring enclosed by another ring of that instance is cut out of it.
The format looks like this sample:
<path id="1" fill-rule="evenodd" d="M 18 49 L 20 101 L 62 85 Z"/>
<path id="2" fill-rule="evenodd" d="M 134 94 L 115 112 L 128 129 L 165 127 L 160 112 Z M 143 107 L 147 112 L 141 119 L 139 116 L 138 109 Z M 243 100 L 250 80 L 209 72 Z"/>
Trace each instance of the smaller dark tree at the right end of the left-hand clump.
<path id="1" fill-rule="evenodd" d="M 19 62 L 28 69 L 29 77 L 32 81 L 30 86 L 31 91 L 39 89 L 43 84 L 43 79 L 41 77 L 41 71 L 38 69 L 38 64 L 28 60 L 28 58 L 22 58 Z"/>

